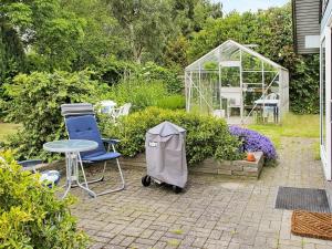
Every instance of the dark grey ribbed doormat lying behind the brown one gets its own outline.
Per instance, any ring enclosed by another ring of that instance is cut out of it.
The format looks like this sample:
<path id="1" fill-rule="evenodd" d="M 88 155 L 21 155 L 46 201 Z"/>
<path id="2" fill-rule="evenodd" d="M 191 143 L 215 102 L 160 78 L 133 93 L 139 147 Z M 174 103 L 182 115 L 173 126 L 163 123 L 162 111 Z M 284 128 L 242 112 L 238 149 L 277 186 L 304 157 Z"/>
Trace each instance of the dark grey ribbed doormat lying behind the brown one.
<path id="1" fill-rule="evenodd" d="M 330 212 L 325 190 L 315 188 L 279 187 L 276 208 Z"/>

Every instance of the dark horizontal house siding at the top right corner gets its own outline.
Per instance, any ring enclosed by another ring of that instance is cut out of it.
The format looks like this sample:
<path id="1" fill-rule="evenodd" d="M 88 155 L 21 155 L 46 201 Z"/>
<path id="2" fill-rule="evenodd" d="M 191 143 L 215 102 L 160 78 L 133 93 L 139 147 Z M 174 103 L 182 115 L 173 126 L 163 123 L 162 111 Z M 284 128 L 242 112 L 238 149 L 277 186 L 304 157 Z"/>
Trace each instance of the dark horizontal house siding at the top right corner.
<path id="1" fill-rule="evenodd" d="M 319 49 L 305 49 L 305 37 L 320 35 L 320 8 L 319 0 L 293 0 L 293 32 L 299 54 L 319 53 Z"/>

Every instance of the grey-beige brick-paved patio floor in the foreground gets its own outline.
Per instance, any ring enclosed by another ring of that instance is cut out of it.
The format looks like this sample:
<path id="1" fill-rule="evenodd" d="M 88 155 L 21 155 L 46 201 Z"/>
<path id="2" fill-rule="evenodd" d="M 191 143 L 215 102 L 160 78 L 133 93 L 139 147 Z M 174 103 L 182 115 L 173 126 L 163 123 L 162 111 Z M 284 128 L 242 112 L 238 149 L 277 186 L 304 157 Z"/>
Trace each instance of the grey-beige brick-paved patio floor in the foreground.
<path id="1" fill-rule="evenodd" d="M 329 249 L 330 241 L 292 236 L 292 212 L 273 208 L 278 186 L 324 188 L 313 142 L 283 138 L 280 165 L 264 167 L 259 180 L 189 175 L 179 195 L 145 188 L 144 172 L 126 168 L 126 190 L 91 199 L 74 189 L 80 203 L 72 210 L 91 248 Z"/>

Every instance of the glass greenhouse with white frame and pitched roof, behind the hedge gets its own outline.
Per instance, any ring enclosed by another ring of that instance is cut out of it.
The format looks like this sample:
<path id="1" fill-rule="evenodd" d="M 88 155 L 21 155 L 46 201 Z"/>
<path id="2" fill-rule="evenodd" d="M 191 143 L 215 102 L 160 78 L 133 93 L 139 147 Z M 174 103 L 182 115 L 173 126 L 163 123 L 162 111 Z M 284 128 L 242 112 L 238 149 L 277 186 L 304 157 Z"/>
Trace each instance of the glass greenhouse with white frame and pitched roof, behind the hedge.
<path id="1" fill-rule="evenodd" d="M 289 72 L 255 46 L 229 40 L 188 65 L 187 112 L 229 124 L 279 123 L 289 111 Z"/>

